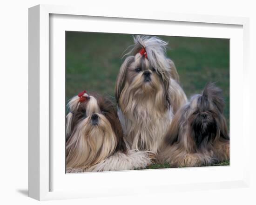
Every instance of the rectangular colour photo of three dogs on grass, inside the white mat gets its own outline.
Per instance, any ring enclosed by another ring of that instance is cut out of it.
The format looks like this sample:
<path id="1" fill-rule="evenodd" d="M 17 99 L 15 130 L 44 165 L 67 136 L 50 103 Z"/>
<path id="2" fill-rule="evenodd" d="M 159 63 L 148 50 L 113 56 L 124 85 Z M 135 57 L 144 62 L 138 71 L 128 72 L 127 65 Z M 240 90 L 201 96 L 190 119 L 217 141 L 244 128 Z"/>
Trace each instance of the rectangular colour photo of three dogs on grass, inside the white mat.
<path id="1" fill-rule="evenodd" d="M 229 165 L 229 39 L 66 32 L 66 173 Z"/>

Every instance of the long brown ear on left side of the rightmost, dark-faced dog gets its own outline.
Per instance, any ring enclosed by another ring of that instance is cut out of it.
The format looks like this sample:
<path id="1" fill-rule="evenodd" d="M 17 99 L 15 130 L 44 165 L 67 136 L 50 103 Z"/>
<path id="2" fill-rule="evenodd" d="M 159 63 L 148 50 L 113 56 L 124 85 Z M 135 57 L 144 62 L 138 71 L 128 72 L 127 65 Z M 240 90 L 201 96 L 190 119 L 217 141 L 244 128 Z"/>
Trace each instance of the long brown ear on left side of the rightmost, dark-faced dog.
<path id="1" fill-rule="evenodd" d="M 181 128 L 183 112 L 184 112 L 184 107 L 179 109 L 174 115 L 171 125 L 164 138 L 165 142 L 168 145 L 173 145 L 175 142 L 179 141 L 179 132 Z"/>

